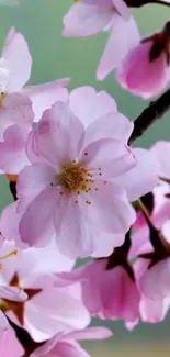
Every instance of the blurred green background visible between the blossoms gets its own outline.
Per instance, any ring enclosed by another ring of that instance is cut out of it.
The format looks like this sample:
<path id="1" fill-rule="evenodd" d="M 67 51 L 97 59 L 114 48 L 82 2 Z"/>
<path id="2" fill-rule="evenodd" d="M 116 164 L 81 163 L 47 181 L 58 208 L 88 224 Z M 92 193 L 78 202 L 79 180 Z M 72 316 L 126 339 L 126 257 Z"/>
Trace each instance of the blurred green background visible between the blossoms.
<path id="1" fill-rule="evenodd" d="M 70 89 L 84 85 L 94 86 L 98 90 L 104 89 L 115 98 L 120 111 L 132 120 L 141 112 L 148 102 L 121 89 L 113 75 L 103 82 L 95 81 L 95 68 L 106 34 L 89 38 L 61 37 L 63 16 L 72 4 L 71 0 L 21 0 L 21 8 L 0 7 L 0 46 L 11 26 L 23 33 L 33 57 L 30 83 L 70 77 Z M 169 14 L 168 8 L 155 4 L 134 11 L 143 35 L 162 27 Z M 137 144 L 149 147 L 161 138 L 170 140 L 170 113 L 155 124 Z M 1 178 L 0 209 L 11 200 L 8 182 Z M 99 321 L 94 323 L 99 324 Z M 86 344 L 93 357 L 141 357 L 144 354 L 146 357 L 170 356 L 170 319 L 157 325 L 140 324 L 133 333 L 127 332 L 120 322 L 109 322 L 105 325 L 113 328 L 115 336 L 110 342 Z"/>

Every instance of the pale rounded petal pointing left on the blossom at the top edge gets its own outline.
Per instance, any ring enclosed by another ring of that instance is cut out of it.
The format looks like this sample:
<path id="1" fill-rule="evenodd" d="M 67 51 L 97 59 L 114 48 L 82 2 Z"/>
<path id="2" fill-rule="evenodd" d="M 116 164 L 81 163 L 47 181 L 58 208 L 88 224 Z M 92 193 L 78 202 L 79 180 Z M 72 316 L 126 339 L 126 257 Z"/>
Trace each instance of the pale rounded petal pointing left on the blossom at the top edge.
<path id="1" fill-rule="evenodd" d="M 63 35 L 66 37 L 86 37 L 95 35 L 111 22 L 112 11 L 103 11 L 98 5 L 77 3 L 64 18 Z"/>

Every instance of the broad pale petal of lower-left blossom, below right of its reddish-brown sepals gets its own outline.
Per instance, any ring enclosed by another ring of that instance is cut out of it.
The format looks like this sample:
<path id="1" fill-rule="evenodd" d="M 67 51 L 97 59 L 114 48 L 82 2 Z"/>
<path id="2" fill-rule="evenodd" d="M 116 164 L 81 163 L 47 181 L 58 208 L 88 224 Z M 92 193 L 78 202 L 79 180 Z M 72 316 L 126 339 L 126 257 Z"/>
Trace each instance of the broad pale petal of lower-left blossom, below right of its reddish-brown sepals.
<path id="1" fill-rule="evenodd" d="M 78 283 L 68 288 L 54 288 L 54 280 L 50 285 L 49 277 L 46 280 L 42 278 L 44 291 L 25 304 L 25 326 L 36 342 L 60 332 L 84 328 L 90 323 L 90 314 L 77 295 L 77 286 L 80 288 Z"/>

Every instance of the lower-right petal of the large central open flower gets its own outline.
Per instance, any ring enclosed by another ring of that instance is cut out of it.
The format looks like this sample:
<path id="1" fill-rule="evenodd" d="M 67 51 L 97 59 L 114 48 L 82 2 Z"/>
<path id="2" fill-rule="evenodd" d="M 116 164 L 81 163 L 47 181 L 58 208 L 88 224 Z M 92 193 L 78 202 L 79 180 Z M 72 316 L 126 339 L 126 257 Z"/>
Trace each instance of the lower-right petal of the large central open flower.
<path id="1" fill-rule="evenodd" d="M 123 188 L 109 181 L 106 185 L 99 181 L 97 187 L 98 191 L 81 194 L 79 204 L 82 214 L 103 233 L 126 233 L 135 221 L 135 213 Z M 91 204 L 87 204 L 87 200 Z"/>

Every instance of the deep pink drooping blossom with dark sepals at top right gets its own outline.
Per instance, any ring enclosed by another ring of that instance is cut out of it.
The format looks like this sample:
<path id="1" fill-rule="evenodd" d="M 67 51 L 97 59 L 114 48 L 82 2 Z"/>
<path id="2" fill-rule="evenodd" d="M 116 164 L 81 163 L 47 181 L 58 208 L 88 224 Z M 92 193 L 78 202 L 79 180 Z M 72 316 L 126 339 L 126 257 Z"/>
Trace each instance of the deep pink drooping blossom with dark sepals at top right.
<path id="1" fill-rule="evenodd" d="M 136 96 L 157 96 L 169 81 L 168 48 L 169 30 L 166 27 L 161 33 L 143 38 L 128 52 L 117 69 L 118 82 Z"/>

